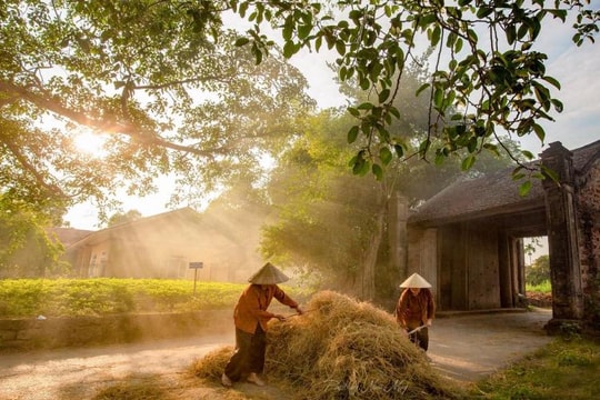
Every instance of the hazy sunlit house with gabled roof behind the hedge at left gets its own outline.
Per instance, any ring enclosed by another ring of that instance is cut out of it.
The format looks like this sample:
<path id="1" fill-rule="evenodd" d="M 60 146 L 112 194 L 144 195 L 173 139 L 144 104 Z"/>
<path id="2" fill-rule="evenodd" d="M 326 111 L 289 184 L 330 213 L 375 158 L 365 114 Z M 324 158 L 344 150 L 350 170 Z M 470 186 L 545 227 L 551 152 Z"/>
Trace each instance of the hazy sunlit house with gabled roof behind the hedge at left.
<path id="1" fill-rule="evenodd" d="M 81 278 L 244 282 L 261 261 L 242 229 L 183 208 L 90 232 L 67 244 L 64 258 Z"/>

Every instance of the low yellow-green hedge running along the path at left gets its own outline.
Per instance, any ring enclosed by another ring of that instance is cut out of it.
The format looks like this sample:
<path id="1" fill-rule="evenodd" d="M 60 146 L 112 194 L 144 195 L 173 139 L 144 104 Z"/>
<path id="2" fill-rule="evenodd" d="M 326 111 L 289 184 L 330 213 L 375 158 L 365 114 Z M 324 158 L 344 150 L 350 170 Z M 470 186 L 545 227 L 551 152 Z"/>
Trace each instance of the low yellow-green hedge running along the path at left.
<path id="1" fill-rule="evenodd" d="M 0 318 L 233 308 L 246 284 L 161 279 L 0 280 Z M 294 290 L 286 288 L 293 296 Z"/>

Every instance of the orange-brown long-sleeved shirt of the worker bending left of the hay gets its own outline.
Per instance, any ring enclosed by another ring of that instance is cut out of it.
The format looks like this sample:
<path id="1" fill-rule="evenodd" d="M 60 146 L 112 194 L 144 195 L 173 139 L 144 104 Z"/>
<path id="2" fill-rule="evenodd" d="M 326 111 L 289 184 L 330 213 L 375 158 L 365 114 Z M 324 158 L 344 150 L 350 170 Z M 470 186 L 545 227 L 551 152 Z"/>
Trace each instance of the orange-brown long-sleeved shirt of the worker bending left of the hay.
<path id="1" fill-rule="evenodd" d="M 233 322 L 236 328 L 254 333 L 258 324 L 267 331 L 267 322 L 274 317 L 274 313 L 267 311 L 271 300 L 276 298 L 280 303 L 297 308 L 298 303 L 293 301 L 277 284 L 250 284 L 241 293 L 236 309 L 233 310 Z"/>

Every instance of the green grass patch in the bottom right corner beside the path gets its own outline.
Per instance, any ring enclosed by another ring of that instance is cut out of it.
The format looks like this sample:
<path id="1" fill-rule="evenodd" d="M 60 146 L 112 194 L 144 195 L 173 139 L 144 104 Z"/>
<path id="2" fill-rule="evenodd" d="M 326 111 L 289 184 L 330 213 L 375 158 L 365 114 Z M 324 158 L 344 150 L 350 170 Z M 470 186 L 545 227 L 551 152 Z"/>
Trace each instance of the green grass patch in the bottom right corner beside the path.
<path id="1" fill-rule="evenodd" d="M 557 338 L 529 357 L 477 383 L 469 398 L 588 400 L 600 393 L 600 340 Z"/>

